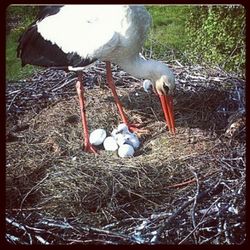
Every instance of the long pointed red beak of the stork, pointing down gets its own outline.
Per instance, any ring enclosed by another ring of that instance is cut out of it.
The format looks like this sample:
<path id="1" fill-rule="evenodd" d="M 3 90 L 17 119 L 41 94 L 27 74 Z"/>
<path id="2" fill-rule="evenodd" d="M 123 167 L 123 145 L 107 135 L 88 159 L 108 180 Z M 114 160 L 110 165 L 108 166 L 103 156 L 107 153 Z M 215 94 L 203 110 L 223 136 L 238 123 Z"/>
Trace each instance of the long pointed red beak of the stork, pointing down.
<path id="1" fill-rule="evenodd" d="M 158 93 L 169 131 L 175 134 L 173 97 Z"/>

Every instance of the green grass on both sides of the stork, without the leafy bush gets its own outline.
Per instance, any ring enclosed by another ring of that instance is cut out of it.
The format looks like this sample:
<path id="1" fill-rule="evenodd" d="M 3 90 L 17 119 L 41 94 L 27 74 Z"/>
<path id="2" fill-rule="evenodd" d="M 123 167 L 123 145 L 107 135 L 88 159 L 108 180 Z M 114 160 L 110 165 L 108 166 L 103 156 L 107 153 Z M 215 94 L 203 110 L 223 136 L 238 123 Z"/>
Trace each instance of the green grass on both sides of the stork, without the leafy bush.
<path id="1" fill-rule="evenodd" d="M 145 48 L 152 47 L 156 54 L 164 54 L 166 47 L 181 50 L 186 44 L 185 13 L 187 6 L 153 5 L 146 6 L 153 18 L 153 25 L 149 32 L 149 39 Z M 21 67 L 21 61 L 16 57 L 18 38 L 34 21 L 37 8 L 34 6 L 10 5 L 7 9 L 7 24 L 14 21 L 15 27 L 6 36 L 6 80 L 20 80 L 31 76 L 38 67 L 26 65 Z M 161 46 L 164 44 L 164 46 Z M 162 50 L 162 51 L 161 51 Z"/>

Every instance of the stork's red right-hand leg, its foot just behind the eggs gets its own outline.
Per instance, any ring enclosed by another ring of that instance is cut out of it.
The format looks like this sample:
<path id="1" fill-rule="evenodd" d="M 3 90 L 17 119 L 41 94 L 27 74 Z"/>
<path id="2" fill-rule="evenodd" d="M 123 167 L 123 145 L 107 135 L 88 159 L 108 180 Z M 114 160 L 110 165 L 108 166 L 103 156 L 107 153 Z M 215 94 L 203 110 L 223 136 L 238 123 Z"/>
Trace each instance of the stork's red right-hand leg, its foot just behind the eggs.
<path id="1" fill-rule="evenodd" d="M 142 125 L 140 124 L 130 124 L 128 122 L 128 118 L 126 117 L 124 111 L 123 111 L 123 108 L 122 108 L 122 104 L 118 98 L 118 95 L 116 93 L 116 89 L 115 89 L 115 84 L 114 84 L 114 81 L 113 81 L 113 77 L 112 77 L 112 72 L 111 72 L 111 65 L 110 65 L 110 62 L 106 62 L 106 69 L 107 69 L 107 82 L 108 82 L 108 85 L 112 91 L 112 94 L 114 96 L 114 99 L 115 99 L 115 103 L 116 103 L 116 106 L 119 110 L 119 113 L 122 117 L 122 121 L 123 123 L 125 123 L 129 130 L 132 131 L 132 132 L 147 132 L 147 130 L 144 130 L 144 129 L 139 129 Z"/>

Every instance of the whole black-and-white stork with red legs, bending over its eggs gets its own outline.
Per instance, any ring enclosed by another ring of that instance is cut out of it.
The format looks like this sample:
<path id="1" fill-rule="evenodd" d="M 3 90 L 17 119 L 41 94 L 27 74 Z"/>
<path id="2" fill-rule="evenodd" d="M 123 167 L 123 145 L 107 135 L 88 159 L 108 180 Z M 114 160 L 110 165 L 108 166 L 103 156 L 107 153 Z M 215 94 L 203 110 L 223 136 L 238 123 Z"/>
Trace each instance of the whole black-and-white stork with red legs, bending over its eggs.
<path id="1" fill-rule="evenodd" d="M 73 70 L 78 73 L 76 89 L 84 131 L 84 150 L 96 153 L 89 142 L 84 107 L 82 70 L 96 60 L 106 62 L 107 82 L 116 105 L 130 131 L 130 124 L 118 99 L 112 78 L 111 62 L 129 74 L 148 79 L 159 95 L 170 132 L 175 133 L 172 94 L 174 75 L 163 63 L 146 60 L 140 50 L 146 38 L 151 17 L 143 6 L 63 5 L 44 6 L 19 39 L 17 56 L 26 64 Z"/>

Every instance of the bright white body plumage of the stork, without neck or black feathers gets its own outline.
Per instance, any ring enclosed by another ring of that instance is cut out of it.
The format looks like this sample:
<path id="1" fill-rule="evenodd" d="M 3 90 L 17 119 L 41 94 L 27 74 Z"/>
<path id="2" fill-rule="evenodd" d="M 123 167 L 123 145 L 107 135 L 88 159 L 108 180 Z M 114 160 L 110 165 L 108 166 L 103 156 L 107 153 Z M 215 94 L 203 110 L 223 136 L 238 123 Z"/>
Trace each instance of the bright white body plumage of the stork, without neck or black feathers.
<path id="1" fill-rule="evenodd" d="M 139 53 L 150 23 L 142 6 L 65 5 L 36 25 L 45 40 L 65 53 L 119 63 Z"/>

